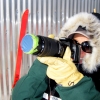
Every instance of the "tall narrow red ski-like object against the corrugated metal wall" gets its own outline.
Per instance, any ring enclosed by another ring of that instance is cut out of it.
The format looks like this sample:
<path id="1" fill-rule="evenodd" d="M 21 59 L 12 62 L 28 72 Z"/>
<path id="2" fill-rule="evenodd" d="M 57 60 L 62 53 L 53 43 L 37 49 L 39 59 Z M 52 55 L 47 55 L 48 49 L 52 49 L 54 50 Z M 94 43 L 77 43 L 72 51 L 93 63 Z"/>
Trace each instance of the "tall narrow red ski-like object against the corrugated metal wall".
<path id="1" fill-rule="evenodd" d="M 15 68 L 15 76 L 14 76 L 14 82 L 13 82 L 13 88 L 16 85 L 17 81 L 20 78 L 20 70 L 21 70 L 21 62 L 22 62 L 22 50 L 20 47 L 20 43 L 22 38 L 24 37 L 26 33 L 26 28 L 27 28 L 27 22 L 28 22 L 28 14 L 29 10 L 25 10 L 25 12 L 22 15 L 21 19 L 21 28 L 20 28 L 20 36 L 19 36 L 19 44 L 18 44 L 18 51 L 17 51 L 17 58 L 16 58 L 16 68 Z"/>

